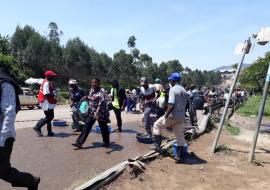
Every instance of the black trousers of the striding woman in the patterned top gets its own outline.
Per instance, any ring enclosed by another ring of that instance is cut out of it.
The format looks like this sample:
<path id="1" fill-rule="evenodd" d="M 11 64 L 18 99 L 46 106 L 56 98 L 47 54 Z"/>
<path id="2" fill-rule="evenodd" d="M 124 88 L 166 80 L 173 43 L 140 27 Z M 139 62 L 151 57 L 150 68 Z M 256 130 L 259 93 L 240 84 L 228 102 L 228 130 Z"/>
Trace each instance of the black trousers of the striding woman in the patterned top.
<path id="1" fill-rule="evenodd" d="M 96 120 L 93 117 L 87 118 L 85 121 L 85 127 L 83 128 L 80 136 L 78 137 L 78 139 L 76 140 L 76 142 L 80 145 L 82 145 L 83 143 L 85 143 L 93 125 L 95 124 Z M 106 122 L 102 122 L 102 121 L 98 121 L 100 130 L 101 130 L 101 134 L 102 134 L 102 138 L 103 138 L 103 142 L 106 145 L 109 145 L 110 143 L 110 134 L 109 134 L 109 128 Z"/>

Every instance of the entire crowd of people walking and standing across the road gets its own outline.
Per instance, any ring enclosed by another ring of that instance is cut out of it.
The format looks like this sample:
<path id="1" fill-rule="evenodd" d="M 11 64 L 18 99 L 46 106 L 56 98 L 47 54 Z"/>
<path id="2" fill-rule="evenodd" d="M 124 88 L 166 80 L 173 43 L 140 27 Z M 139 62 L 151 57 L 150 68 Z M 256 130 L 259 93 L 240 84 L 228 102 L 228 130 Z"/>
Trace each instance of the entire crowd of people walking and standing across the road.
<path id="1" fill-rule="evenodd" d="M 54 80 L 57 74 L 49 70 L 44 73 L 45 79 L 40 85 L 38 93 L 39 105 L 44 111 L 44 118 L 41 118 L 33 128 L 38 136 L 43 136 L 42 127 L 47 126 L 47 136 L 54 136 L 52 131 L 52 120 L 54 109 L 57 105 L 57 93 Z M 185 144 L 184 121 L 188 117 L 193 126 L 197 126 L 197 110 L 207 112 L 207 104 L 211 104 L 216 99 L 227 99 L 228 89 L 201 88 L 200 86 L 181 85 L 181 73 L 174 72 L 168 77 L 168 81 L 156 79 L 154 84 L 150 84 L 147 78 L 142 77 L 139 81 L 140 88 L 128 90 L 121 87 L 119 81 L 111 81 L 109 93 L 101 86 L 98 78 L 90 81 L 90 91 L 86 93 L 79 87 L 75 79 L 70 79 L 70 107 L 72 111 L 72 128 L 80 135 L 72 144 L 77 149 L 81 149 L 85 143 L 93 125 L 98 122 L 103 138 L 103 146 L 110 146 L 110 132 L 108 123 L 110 120 L 110 110 L 113 110 L 117 121 L 115 132 L 122 132 L 121 112 L 126 109 L 127 113 L 137 111 L 143 112 L 142 122 L 144 123 L 146 134 L 153 138 L 155 150 L 160 151 L 162 141 L 162 128 L 171 127 L 175 135 L 176 153 L 174 158 L 177 163 L 184 158 Z M 16 187 L 27 187 L 28 189 L 38 189 L 39 177 L 32 174 L 20 172 L 11 167 L 10 155 L 15 141 L 15 118 L 20 110 L 18 94 L 19 85 L 8 75 L 0 72 L 0 178 Z M 239 101 L 245 101 L 244 91 L 235 91 L 234 97 Z M 151 114 L 156 115 L 152 122 Z M 81 125 L 83 122 L 84 125 Z"/>

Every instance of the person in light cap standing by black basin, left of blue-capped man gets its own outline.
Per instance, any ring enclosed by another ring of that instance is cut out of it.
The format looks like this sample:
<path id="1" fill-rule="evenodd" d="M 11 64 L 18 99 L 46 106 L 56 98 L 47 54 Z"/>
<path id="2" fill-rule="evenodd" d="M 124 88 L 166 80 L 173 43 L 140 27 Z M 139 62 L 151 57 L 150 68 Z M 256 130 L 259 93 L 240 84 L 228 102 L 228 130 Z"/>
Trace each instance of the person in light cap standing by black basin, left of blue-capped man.
<path id="1" fill-rule="evenodd" d="M 152 126 L 150 113 L 156 113 L 159 109 L 156 104 L 156 88 L 150 85 L 145 77 L 140 79 L 141 82 L 141 103 L 140 109 L 143 110 L 143 120 L 145 130 L 149 137 L 152 137 Z"/>

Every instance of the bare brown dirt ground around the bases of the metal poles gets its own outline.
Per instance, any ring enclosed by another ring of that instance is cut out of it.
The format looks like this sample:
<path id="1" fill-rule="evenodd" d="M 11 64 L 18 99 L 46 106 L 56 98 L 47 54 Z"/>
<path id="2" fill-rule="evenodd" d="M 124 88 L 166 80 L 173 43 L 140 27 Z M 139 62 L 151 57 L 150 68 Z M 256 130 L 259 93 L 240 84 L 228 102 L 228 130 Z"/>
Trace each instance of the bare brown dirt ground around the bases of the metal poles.
<path id="1" fill-rule="evenodd" d="M 131 179 L 125 172 L 104 189 L 269 189 L 269 146 L 258 147 L 256 159 L 263 167 L 254 166 L 247 162 L 250 144 L 231 137 L 226 131 L 223 131 L 220 143 L 228 145 L 231 152 L 210 153 L 215 132 L 203 135 L 190 145 L 197 161 L 175 164 L 171 158 L 161 158 L 148 164 L 146 172 L 139 177 Z"/>

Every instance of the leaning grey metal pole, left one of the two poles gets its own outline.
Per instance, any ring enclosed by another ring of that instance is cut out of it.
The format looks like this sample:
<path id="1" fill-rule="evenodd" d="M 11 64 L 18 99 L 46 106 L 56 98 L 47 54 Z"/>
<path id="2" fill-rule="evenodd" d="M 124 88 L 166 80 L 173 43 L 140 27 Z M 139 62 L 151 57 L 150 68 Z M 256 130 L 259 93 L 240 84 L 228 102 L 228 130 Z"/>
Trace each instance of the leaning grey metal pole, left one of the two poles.
<path id="1" fill-rule="evenodd" d="M 237 70 L 236 70 L 236 73 L 235 73 L 235 76 L 234 76 L 233 85 L 231 86 L 231 89 L 230 89 L 229 98 L 226 100 L 225 108 L 223 110 L 222 117 L 221 117 L 221 120 L 220 120 L 220 123 L 219 123 L 217 135 L 216 135 L 216 138 L 215 138 L 214 143 L 213 143 L 212 153 L 215 153 L 216 152 L 218 140 L 219 140 L 219 137 L 220 137 L 220 134 L 221 134 L 221 130 L 222 130 L 222 127 L 223 127 L 223 124 L 224 124 L 224 121 L 225 121 L 225 117 L 226 117 L 226 114 L 227 114 L 227 111 L 228 111 L 228 107 L 229 107 L 229 104 L 230 104 L 230 99 L 232 97 L 232 93 L 233 93 L 235 84 L 237 82 L 237 79 L 238 79 L 238 76 L 239 76 L 239 73 L 240 73 L 240 70 L 241 70 L 243 61 L 245 59 L 245 55 L 249 52 L 249 49 L 250 49 L 250 38 L 245 43 L 241 62 L 237 66 Z"/>

